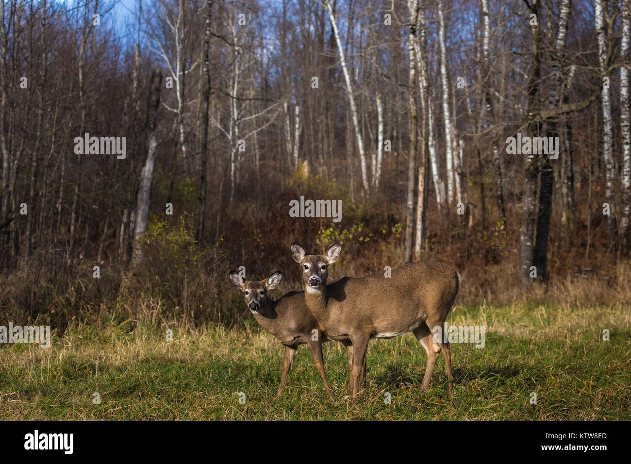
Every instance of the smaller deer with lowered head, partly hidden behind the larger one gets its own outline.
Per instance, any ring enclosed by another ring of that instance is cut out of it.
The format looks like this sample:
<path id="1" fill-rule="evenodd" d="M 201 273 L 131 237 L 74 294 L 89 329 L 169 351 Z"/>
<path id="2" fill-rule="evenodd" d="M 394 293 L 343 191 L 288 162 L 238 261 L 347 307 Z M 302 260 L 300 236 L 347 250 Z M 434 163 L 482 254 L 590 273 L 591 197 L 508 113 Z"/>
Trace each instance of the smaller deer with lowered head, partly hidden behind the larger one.
<path id="1" fill-rule="evenodd" d="M 322 342 L 331 340 L 326 336 L 322 326 L 305 304 L 304 292 L 289 292 L 278 300 L 268 297 L 268 290 L 275 289 L 283 278 L 280 271 L 274 272 L 265 280 L 245 280 L 236 271 L 230 271 L 230 282 L 238 287 L 245 295 L 245 304 L 261 327 L 274 335 L 285 345 L 285 359 L 283 360 L 283 376 L 281 377 L 276 399 L 283 395 L 289 370 L 298 345 L 309 343 L 314 355 L 315 368 L 322 376 L 324 390 L 333 398 L 333 389 L 329 385 L 324 373 L 324 359 L 322 358 Z M 317 336 L 314 336 L 317 335 Z M 315 338 L 315 340 L 313 340 Z"/>

